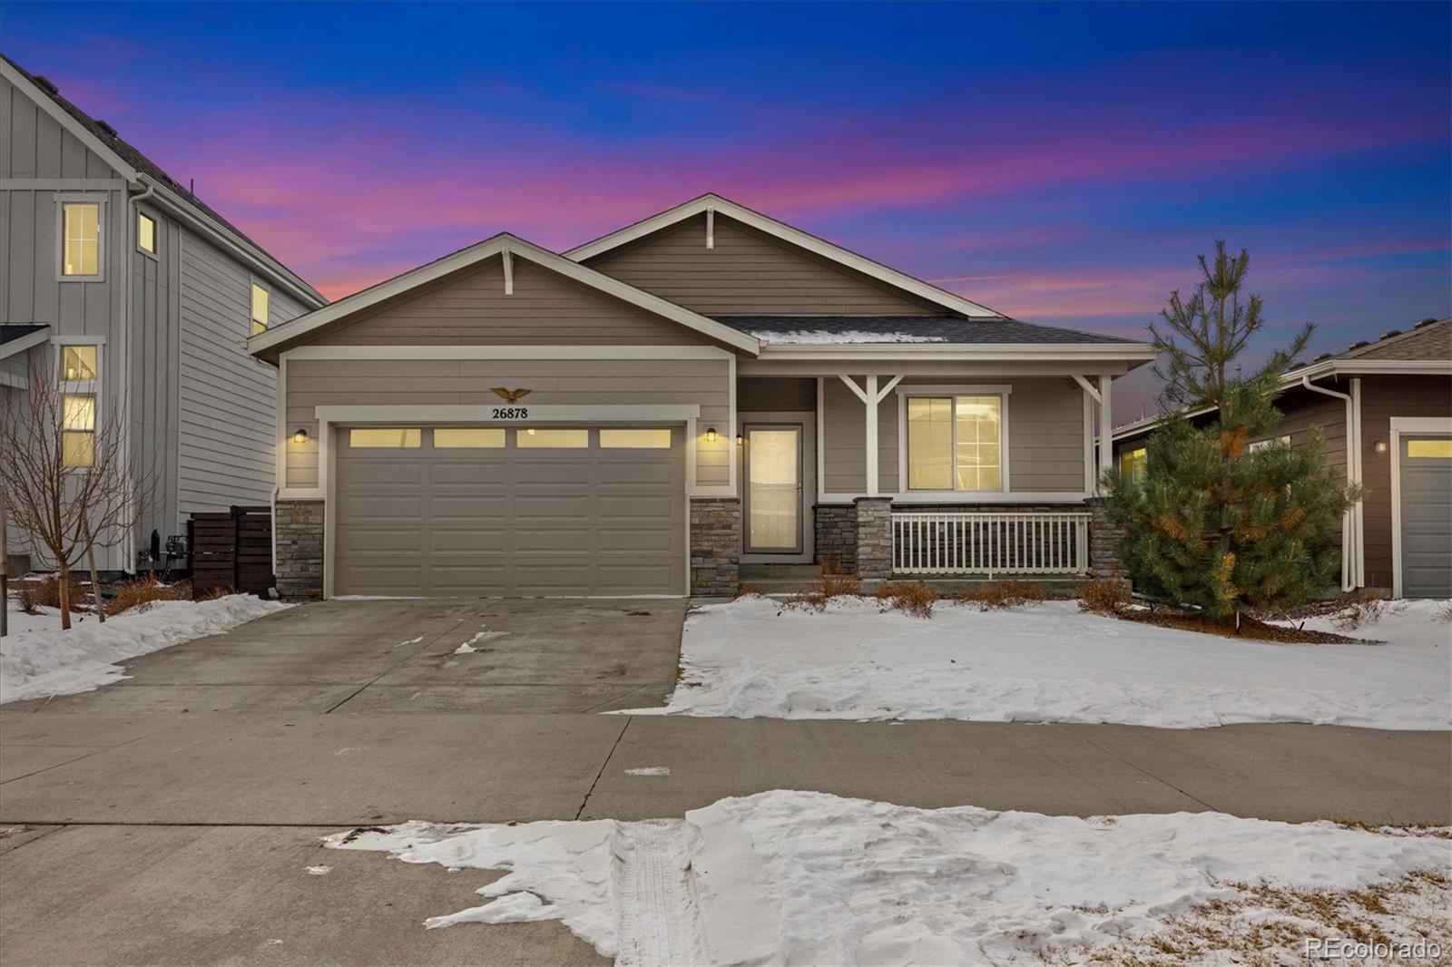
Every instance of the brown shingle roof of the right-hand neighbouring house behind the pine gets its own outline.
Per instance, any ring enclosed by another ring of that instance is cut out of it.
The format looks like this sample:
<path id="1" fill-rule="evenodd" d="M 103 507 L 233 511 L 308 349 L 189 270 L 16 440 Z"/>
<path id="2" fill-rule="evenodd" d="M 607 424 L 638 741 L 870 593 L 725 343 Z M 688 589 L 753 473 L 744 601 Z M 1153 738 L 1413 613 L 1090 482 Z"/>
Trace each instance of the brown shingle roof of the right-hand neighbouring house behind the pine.
<path id="1" fill-rule="evenodd" d="M 1314 362 L 1286 370 L 1281 376 L 1281 391 L 1292 389 L 1307 379 L 1339 375 L 1408 375 L 1452 376 L 1452 317 L 1423 319 L 1411 330 L 1391 330 L 1374 341 L 1355 343 L 1340 353 L 1323 353 Z M 1176 414 L 1179 418 L 1204 417 L 1217 407 L 1196 407 Z M 1149 433 L 1165 414 L 1140 417 L 1115 427 L 1115 441 Z"/>

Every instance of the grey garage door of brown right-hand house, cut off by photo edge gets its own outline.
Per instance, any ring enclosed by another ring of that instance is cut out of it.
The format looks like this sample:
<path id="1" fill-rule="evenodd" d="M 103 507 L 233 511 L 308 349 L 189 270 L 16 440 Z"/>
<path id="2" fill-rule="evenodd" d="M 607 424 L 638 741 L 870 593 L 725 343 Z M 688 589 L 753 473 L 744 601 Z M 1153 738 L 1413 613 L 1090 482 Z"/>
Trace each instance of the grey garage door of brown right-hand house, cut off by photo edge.
<path id="1" fill-rule="evenodd" d="M 1452 437 L 1401 437 L 1401 594 L 1452 597 Z"/>

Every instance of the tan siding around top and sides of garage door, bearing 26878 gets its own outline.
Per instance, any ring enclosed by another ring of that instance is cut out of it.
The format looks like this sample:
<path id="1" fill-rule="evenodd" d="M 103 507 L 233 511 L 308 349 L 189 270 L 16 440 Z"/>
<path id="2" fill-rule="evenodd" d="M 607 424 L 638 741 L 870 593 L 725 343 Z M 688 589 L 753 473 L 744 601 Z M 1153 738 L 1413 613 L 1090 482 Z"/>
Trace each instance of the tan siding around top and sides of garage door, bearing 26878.
<path id="1" fill-rule="evenodd" d="M 498 405 L 492 386 L 529 388 L 526 405 L 610 407 L 696 404 L 701 408 L 697 485 L 730 479 L 730 360 L 722 359 L 289 359 L 285 431 L 308 430 L 303 444 L 285 443 L 286 486 L 318 485 L 315 407 Z M 590 424 L 588 420 L 581 421 Z M 717 427 L 710 444 L 701 437 Z"/>

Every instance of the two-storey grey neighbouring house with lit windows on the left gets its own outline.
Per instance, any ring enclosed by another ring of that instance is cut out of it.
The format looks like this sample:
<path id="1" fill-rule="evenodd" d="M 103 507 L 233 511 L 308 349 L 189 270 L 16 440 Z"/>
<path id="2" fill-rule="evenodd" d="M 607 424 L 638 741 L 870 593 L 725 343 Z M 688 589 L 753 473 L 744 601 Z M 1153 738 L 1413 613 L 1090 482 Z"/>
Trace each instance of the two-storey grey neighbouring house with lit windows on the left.
<path id="1" fill-rule="evenodd" d="M 0 393 L 12 405 L 30 379 L 64 380 L 76 465 L 97 421 L 122 420 L 131 463 L 157 479 L 100 566 L 134 569 L 192 511 L 270 502 L 276 370 L 247 338 L 327 299 L 6 58 L 0 135 Z"/>

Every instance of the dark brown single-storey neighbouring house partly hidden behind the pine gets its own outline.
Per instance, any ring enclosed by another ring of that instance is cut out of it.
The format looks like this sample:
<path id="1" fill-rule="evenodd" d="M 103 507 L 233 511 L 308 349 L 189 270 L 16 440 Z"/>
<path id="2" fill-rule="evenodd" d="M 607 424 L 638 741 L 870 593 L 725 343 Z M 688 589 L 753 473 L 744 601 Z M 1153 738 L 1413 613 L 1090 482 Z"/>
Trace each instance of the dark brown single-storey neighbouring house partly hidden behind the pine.
<path id="1" fill-rule="evenodd" d="M 1327 353 L 1281 385 L 1284 417 L 1250 446 L 1298 446 L 1320 428 L 1330 465 L 1365 486 L 1339 534 L 1342 589 L 1452 597 L 1452 318 Z M 1144 466 L 1157 420 L 1115 428 L 1122 470 Z"/>

